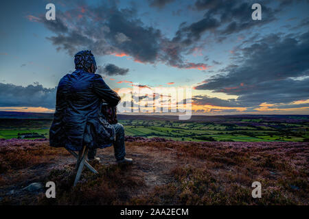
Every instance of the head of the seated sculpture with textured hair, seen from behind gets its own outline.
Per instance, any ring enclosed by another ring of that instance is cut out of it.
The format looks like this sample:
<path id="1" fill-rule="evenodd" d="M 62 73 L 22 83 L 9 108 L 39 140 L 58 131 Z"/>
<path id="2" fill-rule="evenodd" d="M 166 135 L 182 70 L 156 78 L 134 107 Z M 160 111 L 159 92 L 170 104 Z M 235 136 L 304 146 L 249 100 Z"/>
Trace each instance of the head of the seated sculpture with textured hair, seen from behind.
<path id="1" fill-rule="evenodd" d="M 89 73 L 95 73 L 95 70 L 97 70 L 95 57 L 90 50 L 79 51 L 74 57 L 76 69 L 82 69 Z"/>

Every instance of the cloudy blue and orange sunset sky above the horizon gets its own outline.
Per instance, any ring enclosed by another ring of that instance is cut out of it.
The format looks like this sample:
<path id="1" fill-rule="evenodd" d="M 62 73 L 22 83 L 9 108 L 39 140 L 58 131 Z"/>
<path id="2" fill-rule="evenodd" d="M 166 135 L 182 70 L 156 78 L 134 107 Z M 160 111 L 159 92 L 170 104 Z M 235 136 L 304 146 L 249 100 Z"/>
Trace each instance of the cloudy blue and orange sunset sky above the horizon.
<path id="1" fill-rule="evenodd" d="M 309 1 L 30 0 L 0 10 L 0 111 L 54 112 L 58 81 L 89 49 L 116 91 L 192 88 L 195 114 L 309 114 Z"/>

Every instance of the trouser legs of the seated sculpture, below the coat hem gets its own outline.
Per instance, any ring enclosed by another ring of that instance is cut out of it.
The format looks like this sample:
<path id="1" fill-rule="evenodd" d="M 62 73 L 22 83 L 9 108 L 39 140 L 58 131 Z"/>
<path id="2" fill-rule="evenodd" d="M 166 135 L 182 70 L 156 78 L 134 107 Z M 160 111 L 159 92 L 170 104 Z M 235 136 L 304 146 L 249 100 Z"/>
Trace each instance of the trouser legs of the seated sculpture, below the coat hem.
<path id="1" fill-rule="evenodd" d="M 120 123 L 112 124 L 116 132 L 116 140 L 113 142 L 115 157 L 117 160 L 124 159 L 126 148 L 124 146 L 124 127 Z M 88 159 L 94 159 L 97 149 L 89 149 Z"/>

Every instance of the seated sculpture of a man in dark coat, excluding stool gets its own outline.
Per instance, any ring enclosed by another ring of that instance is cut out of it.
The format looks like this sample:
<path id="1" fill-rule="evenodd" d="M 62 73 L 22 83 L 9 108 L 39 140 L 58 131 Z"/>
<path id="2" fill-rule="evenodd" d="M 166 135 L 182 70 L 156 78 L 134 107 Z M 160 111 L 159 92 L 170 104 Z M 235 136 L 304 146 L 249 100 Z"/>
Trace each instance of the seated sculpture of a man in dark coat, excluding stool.
<path id="1" fill-rule="evenodd" d="M 89 149 L 88 159 L 95 157 L 97 149 L 113 144 L 117 163 L 132 163 L 126 158 L 124 146 L 124 127 L 110 124 L 102 109 L 102 104 L 115 107 L 120 96 L 111 90 L 97 69 L 95 57 L 91 51 L 80 51 L 75 55 L 76 70 L 67 74 L 58 84 L 56 94 L 56 112 L 49 130 L 49 144 L 65 147 L 71 151 L 81 151 L 83 146 Z"/>

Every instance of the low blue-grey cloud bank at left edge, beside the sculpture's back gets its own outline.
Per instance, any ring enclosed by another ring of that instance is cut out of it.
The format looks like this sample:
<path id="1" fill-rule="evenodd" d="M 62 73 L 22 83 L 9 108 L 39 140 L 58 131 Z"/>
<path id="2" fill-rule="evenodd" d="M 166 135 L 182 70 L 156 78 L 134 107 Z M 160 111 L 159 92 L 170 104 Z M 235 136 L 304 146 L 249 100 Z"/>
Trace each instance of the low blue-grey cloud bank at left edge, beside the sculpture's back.
<path id="1" fill-rule="evenodd" d="M 27 87 L 11 83 L 0 83 L 1 107 L 47 107 L 54 108 L 56 104 L 56 88 L 43 88 L 34 83 Z"/>

